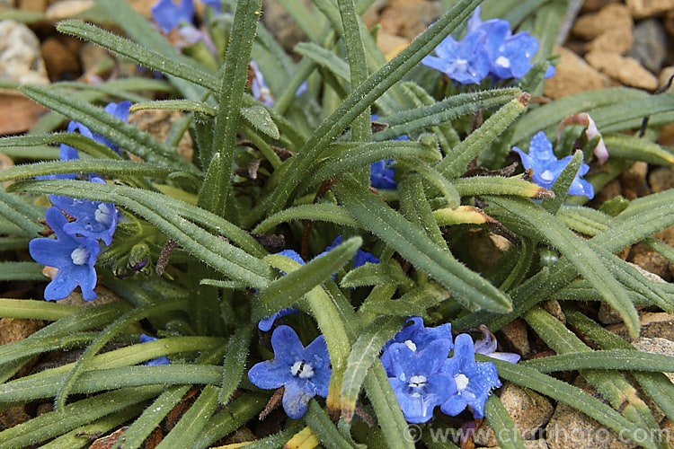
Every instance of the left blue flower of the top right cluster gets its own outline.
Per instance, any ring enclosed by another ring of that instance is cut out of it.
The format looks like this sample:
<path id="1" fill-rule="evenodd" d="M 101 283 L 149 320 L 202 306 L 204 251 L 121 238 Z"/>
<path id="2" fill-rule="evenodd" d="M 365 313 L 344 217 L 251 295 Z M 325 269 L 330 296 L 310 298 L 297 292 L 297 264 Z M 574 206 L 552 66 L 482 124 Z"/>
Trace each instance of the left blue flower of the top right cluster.
<path id="1" fill-rule="evenodd" d="M 434 56 L 421 59 L 421 64 L 439 70 L 458 84 L 477 84 L 489 73 L 489 54 L 483 45 L 483 31 L 466 34 L 463 40 L 448 36 L 435 48 Z"/>

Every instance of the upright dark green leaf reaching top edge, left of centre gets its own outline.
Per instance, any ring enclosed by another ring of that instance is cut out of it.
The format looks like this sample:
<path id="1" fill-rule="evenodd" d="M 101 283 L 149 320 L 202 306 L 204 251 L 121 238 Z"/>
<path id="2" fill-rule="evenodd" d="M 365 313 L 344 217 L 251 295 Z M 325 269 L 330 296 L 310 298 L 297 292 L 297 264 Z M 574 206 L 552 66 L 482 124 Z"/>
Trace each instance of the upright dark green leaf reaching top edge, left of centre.
<path id="1" fill-rule="evenodd" d="M 217 170 L 217 186 L 220 195 L 206 207 L 217 216 L 225 216 L 226 202 L 231 189 L 234 146 L 239 126 L 239 110 L 242 107 L 248 62 L 255 28 L 260 20 L 262 0 L 246 0 L 236 3 L 234 24 L 229 33 L 225 55 L 225 69 L 220 80 L 220 95 L 217 99 L 216 124 L 213 129 L 213 153 L 220 154 L 220 168 Z"/>

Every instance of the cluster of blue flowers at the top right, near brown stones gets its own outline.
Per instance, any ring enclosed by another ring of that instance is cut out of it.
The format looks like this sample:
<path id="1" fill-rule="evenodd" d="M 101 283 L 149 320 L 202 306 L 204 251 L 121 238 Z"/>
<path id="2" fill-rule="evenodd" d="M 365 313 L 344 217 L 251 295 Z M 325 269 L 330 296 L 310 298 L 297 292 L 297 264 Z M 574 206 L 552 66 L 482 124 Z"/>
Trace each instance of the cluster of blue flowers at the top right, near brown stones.
<path id="1" fill-rule="evenodd" d="M 512 34 L 510 23 L 500 19 L 482 22 L 478 6 L 468 21 L 463 40 L 451 36 L 435 48 L 437 56 L 427 56 L 421 64 L 448 75 L 458 84 L 477 84 L 487 75 L 495 79 L 521 78 L 531 68 L 538 41 L 528 31 Z M 550 66 L 545 78 L 554 75 Z"/>

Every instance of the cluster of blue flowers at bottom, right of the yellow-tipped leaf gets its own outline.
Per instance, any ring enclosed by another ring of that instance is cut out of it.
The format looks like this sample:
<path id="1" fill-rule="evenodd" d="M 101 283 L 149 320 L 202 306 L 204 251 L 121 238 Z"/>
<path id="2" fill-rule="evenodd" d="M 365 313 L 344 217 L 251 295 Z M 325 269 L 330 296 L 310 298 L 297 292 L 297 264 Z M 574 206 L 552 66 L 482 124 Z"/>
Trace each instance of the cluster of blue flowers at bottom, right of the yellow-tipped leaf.
<path id="1" fill-rule="evenodd" d="M 386 343 L 380 357 L 405 419 L 426 422 L 436 406 L 450 416 L 468 407 L 475 418 L 483 418 L 484 402 L 501 382 L 496 366 L 475 362 L 474 355 L 492 356 L 496 348 L 492 335 L 483 330 L 486 337 L 475 343 L 467 334 L 452 341 L 450 324 L 426 328 L 421 317 L 408 322 L 411 324 Z M 448 358 L 452 348 L 454 355 Z M 514 354 L 499 356 L 513 363 L 519 360 Z"/>

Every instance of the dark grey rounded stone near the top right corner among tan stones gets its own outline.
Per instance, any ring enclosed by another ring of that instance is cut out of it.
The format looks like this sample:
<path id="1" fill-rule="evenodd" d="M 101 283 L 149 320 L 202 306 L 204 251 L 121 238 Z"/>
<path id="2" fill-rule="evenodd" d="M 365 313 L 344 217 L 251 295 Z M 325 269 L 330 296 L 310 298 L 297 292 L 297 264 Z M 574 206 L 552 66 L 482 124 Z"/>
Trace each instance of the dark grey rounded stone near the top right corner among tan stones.
<path id="1" fill-rule="evenodd" d="M 633 44 L 627 56 L 634 57 L 642 66 L 658 75 L 667 57 L 667 32 L 661 22 L 656 19 L 639 22 L 632 36 Z"/>

